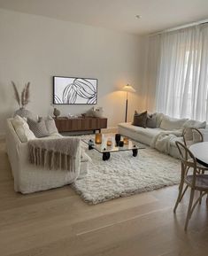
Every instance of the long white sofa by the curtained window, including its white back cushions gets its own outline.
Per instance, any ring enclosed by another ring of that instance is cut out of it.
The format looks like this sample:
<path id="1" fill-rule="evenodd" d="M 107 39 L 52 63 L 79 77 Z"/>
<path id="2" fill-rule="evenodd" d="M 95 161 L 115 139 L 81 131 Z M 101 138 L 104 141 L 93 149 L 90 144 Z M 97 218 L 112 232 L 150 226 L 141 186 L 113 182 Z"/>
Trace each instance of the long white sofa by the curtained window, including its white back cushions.
<path id="1" fill-rule="evenodd" d="M 152 145 L 152 142 L 161 133 L 171 134 L 176 131 L 181 131 L 183 128 L 187 127 L 196 127 L 199 128 L 199 130 L 204 135 L 204 141 L 208 141 L 208 128 L 206 127 L 205 122 L 199 122 L 195 120 L 188 120 L 188 119 L 172 119 L 170 117 L 167 117 L 165 115 L 162 115 L 159 113 L 159 121 L 157 128 L 142 128 L 138 126 L 132 125 L 132 123 L 119 123 L 118 129 L 119 134 L 122 136 L 128 136 L 135 141 L 138 141 L 142 144 Z M 163 120 L 166 119 L 166 120 Z M 169 120 L 168 120 L 169 119 Z M 167 121 L 168 120 L 168 121 Z M 202 128 L 203 127 L 203 128 Z M 165 129 L 166 128 L 166 129 Z M 181 141 L 182 142 L 182 136 L 174 136 L 169 143 L 169 149 L 168 154 L 173 156 L 174 158 L 179 157 L 179 153 L 175 144 L 175 141 Z"/>

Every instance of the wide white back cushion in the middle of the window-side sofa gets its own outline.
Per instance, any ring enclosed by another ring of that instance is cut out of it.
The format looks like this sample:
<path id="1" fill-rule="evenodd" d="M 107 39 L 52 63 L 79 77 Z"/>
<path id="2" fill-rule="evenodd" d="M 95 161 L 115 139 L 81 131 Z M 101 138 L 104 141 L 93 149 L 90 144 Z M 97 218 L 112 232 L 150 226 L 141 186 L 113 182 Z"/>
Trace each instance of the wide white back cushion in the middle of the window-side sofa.
<path id="1" fill-rule="evenodd" d="M 165 130 L 181 129 L 186 121 L 187 119 L 175 119 L 164 115 L 160 124 L 160 128 Z"/>

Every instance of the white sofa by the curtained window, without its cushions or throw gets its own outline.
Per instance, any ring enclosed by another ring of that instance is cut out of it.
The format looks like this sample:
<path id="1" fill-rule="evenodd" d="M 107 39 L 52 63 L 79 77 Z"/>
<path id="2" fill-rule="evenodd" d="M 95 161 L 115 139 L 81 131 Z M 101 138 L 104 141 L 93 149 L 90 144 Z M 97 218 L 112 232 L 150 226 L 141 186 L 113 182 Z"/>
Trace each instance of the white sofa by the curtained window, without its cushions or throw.
<path id="1" fill-rule="evenodd" d="M 142 127 L 137 127 L 132 125 L 132 123 L 127 122 L 127 123 L 119 123 L 118 125 L 118 130 L 119 130 L 119 134 L 121 134 L 122 136 L 128 136 L 132 139 L 134 139 L 135 141 L 138 141 L 142 144 L 147 144 L 147 145 L 151 145 L 153 139 L 158 136 L 158 134 L 160 134 L 161 132 L 171 132 L 171 126 L 169 127 L 169 129 L 164 129 L 163 126 L 161 127 L 161 123 L 163 118 L 167 118 L 167 116 L 165 115 L 161 115 L 160 114 L 160 121 L 158 122 L 158 128 L 142 128 Z M 176 119 L 171 119 L 173 120 L 173 122 L 176 122 L 178 120 Z M 194 121 L 194 120 L 179 120 L 179 122 L 181 122 L 181 124 L 179 125 L 180 129 L 182 130 L 185 127 L 196 127 L 199 128 L 199 130 L 202 132 L 202 134 L 204 135 L 204 141 L 208 141 L 208 128 L 200 128 L 200 125 L 203 124 L 204 126 L 204 122 L 198 122 L 198 121 Z M 187 125 L 186 125 L 187 124 Z M 173 124 L 174 127 L 174 124 Z M 179 127 L 177 129 L 179 129 Z M 168 126 L 167 126 L 168 128 Z M 175 131 L 176 129 L 173 129 L 173 131 Z M 182 136 L 177 136 L 175 137 L 173 140 L 171 140 L 170 142 L 170 149 L 169 149 L 169 154 L 171 156 L 173 156 L 174 158 L 178 158 L 179 157 L 179 152 L 178 149 L 176 147 L 175 141 L 183 141 L 182 140 Z"/>

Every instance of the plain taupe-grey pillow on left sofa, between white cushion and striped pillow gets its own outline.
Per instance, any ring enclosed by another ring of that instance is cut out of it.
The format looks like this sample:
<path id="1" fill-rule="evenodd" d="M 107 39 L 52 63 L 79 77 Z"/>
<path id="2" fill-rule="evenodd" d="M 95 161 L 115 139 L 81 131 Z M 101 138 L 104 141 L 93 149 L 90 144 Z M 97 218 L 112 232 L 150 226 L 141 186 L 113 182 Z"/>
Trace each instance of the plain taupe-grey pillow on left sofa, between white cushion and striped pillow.
<path id="1" fill-rule="evenodd" d="M 27 123 L 37 138 L 50 136 L 46 128 L 45 121 L 42 118 L 39 118 L 38 121 L 28 118 Z"/>

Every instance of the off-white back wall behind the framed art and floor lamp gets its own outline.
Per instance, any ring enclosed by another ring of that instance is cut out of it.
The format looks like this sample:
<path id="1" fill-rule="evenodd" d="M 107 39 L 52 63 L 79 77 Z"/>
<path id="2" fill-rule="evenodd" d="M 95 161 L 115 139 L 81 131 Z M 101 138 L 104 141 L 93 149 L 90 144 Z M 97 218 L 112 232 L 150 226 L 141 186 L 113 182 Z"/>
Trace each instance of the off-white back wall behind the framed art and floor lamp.
<path id="1" fill-rule="evenodd" d="M 98 106 L 104 107 L 108 126 L 124 120 L 125 92 L 131 83 L 139 94 L 143 76 L 143 39 L 99 27 L 89 27 L 0 9 L 0 134 L 5 119 L 18 105 L 11 81 L 19 89 L 31 82 L 27 108 L 39 115 L 52 112 L 52 76 L 98 79 Z M 129 98 L 129 120 L 140 97 Z M 62 115 L 79 114 L 89 105 L 62 105 Z"/>

